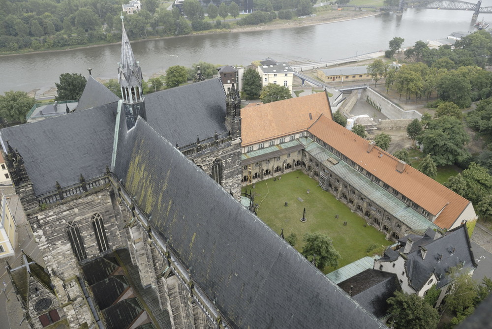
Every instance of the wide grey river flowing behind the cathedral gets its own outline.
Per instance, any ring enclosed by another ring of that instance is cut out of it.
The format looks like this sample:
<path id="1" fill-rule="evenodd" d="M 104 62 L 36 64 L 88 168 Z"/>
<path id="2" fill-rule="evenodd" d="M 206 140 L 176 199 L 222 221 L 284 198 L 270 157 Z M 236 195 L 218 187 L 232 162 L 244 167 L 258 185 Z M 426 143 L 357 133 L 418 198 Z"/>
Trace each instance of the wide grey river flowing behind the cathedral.
<path id="1" fill-rule="evenodd" d="M 492 5 L 484 0 L 482 6 Z M 144 78 L 162 74 L 172 65 L 191 66 L 200 60 L 215 64 L 244 64 L 271 57 L 278 61 L 337 60 L 385 50 L 395 36 L 403 46 L 418 40 L 445 38 L 454 31 L 473 30 L 472 12 L 408 9 L 402 16 L 385 13 L 361 19 L 278 30 L 228 32 L 181 36 L 132 43 Z M 491 15 L 480 15 L 479 20 Z M 492 26 L 492 25 L 491 25 Z M 82 73 L 87 68 L 103 79 L 117 77 L 121 46 L 74 49 L 0 57 L 0 94 L 7 90 L 30 91 L 54 87 L 64 72 Z"/>

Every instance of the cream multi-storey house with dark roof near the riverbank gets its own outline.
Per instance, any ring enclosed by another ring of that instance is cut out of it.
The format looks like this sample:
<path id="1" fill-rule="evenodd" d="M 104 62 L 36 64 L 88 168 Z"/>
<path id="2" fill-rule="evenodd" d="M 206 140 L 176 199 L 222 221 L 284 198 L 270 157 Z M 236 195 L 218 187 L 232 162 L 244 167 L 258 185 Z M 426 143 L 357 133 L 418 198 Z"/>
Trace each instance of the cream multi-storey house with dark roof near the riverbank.
<path id="1" fill-rule="evenodd" d="M 292 91 L 294 70 L 289 66 L 289 64 L 287 64 L 287 62 L 277 62 L 271 58 L 268 58 L 260 61 L 260 65 L 257 66 L 257 70 L 260 74 L 263 87 L 268 84 L 274 84 L 287 87 L 290 91 Z"/>

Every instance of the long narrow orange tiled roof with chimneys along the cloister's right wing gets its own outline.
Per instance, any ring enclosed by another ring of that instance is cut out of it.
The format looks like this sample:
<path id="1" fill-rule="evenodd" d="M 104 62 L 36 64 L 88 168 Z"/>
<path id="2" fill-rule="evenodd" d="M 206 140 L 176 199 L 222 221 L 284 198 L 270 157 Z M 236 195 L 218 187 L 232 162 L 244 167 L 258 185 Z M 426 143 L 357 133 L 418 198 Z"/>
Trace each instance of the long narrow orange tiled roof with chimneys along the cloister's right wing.
<path id="1" fill-rule="evenodd" d="M 368 153 L 369 141 L 325 116 L 321 116 L 308 131 L 432 215 L 444 208 L 434 221 L 441 228 L 451 228 L 470 204 L 415 168 L 407 165 L 402 173 L 398 172 L 396 157 L 378 147 Z"/>

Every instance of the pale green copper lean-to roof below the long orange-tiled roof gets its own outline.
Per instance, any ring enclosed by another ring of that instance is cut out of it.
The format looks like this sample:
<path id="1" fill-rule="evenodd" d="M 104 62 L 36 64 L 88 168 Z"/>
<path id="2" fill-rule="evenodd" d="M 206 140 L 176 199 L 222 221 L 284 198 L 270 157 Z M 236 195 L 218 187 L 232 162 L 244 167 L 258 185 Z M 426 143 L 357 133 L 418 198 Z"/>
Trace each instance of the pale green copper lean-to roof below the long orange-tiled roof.
<path id="1" fill-rule="evenodd" d="M 368 199 L 372 200 L 379 207 L 383 208 L 389 214 L 398 218 L 405 225 L 409 226 L 413 230 L 423 230 L 427 228 L 439 230 L 439 227 L 432 223 L 429 219 L 403 203 L 400 199 L 395 197 L 390 192 L 368 179 L 365 175 L 360 173 L 355 168 L 341 160 L 338 156 L 325 149 L 312 139 L 303 139 L 306 141 L 305 150 L 314 156 L 318 161 L 321 161 L 328 169 L 330 169 L 339 178 L 345 180 L 348 184 L 353 186 L 361 194 L 365 195 Z M 335 158 L 338 160 L 337 164 L 333 164 L 328 161 L 328 158 Z"/>

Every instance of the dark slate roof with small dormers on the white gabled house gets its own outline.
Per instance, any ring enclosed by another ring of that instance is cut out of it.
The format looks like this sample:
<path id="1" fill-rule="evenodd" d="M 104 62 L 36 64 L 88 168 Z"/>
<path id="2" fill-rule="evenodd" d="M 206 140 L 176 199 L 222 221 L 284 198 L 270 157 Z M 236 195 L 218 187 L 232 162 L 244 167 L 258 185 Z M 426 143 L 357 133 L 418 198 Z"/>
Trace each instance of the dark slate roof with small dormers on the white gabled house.
<path id="1" fill-rule="evenodd" d="M 436 286 L 441 288 L 450 281 L 450 277 L 446 275 L 450 268 L 462 265 L 464 269 L 471 270 L 477 267 L 468 238 L 468 230 L 464 224 L 435 240 L 432 240 L 429 235 L 421 236 L 420 239 L 413 236 L 411 239 L 413 245 L 411 251 L 405 254 L 407 257 L 405 268 L 410 286 L 416 291 L 422 289 L 432 273 L 440 278 Z M 395 252 L 403 252 L 404 246 L 402 244 Z M 420 246 L 425 246 L 427 249 L 425 259 L 422 259 Z M 455 248 L 454 251 L 453 248 Z M 390 260 L 390 258 L 385 255 L 379 259 L 379 261 L 385 260 Z"/>

